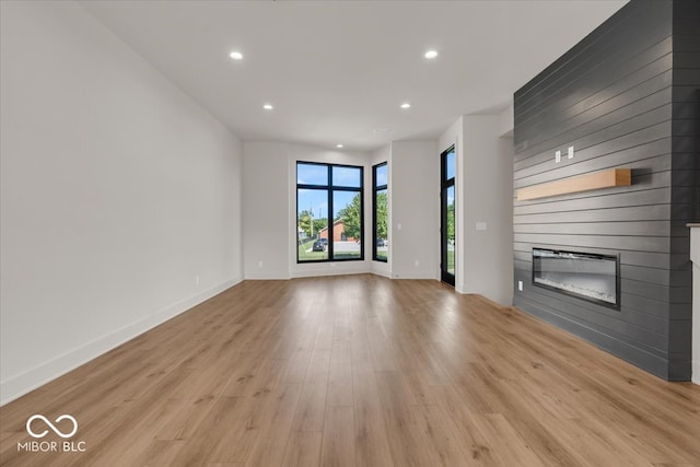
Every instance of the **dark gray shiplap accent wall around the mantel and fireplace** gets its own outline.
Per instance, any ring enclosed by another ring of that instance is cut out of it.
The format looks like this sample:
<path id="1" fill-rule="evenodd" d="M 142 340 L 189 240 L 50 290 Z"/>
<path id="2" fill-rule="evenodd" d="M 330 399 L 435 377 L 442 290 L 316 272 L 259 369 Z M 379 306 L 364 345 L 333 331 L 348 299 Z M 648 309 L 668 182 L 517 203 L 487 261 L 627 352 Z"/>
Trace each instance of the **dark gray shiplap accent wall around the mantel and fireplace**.
<path id="1" fill-rule="evenodd" d="M 696 2 L 684 14 L 674 3 L 632 0 L 515 93 L 515 189 L 612 167 L 632 168 L 632 186 L 515 200 L 514 304 L 658 376 L 689 380 L 698 23 L 686 21 Z M 676 37 L 675 23 L 692 32 Z M 680 43 L 685 74 L 674 69 Z M 569 145 L 575 157 L 555 163 Z M 620 254 L 621 310 L 534 287 L 538 246 Z"/>

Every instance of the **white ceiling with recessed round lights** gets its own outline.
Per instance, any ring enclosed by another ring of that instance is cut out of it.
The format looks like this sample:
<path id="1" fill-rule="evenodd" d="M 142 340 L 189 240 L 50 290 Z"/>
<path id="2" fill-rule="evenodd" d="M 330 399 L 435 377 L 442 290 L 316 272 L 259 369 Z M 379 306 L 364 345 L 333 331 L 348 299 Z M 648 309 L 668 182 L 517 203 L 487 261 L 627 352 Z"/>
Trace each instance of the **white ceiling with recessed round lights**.
<path id="1" fill-rule="evenodd" d="M 242 139 L 372 150 L 504 108 L 626 0 L 81 3 Z"/>

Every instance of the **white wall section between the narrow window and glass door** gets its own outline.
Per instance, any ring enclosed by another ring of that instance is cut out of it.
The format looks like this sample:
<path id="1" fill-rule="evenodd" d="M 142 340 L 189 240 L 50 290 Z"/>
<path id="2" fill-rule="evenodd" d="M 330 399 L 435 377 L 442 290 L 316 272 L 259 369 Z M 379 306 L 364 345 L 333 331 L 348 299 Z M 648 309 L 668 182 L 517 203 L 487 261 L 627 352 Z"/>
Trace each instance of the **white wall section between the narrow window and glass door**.
<path id="1" fill-rule="evenodd" d="M 394 141 L 392 277 L 438 279 L 440 264 L 440 152 L 436 141 Z"/>

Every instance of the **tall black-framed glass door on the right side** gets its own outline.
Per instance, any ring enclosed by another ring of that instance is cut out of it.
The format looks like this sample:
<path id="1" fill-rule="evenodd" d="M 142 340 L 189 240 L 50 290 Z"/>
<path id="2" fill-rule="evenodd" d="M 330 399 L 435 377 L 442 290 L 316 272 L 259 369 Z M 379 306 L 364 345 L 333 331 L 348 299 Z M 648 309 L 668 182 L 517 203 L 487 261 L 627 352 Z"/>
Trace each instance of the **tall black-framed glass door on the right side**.
<path id="1" fill-rule="evenodd" d="M 440 155 L 441 280 L 455 287 L 455 147 Z"/>

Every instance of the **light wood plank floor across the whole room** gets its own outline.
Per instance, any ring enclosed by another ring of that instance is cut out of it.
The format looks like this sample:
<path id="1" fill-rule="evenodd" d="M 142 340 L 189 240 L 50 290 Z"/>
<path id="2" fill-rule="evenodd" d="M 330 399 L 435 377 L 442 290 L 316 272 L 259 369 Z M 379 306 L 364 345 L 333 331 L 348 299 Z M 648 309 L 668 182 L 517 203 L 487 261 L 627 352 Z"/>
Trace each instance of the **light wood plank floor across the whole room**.
<path id="1" fill-rule="evenodd" d="M 18 453 L 34 413 L 86 451 Z M 0 415 L 2 465 L 700 465 L 699 386 L 374 276 L 244 282 Z"/>

